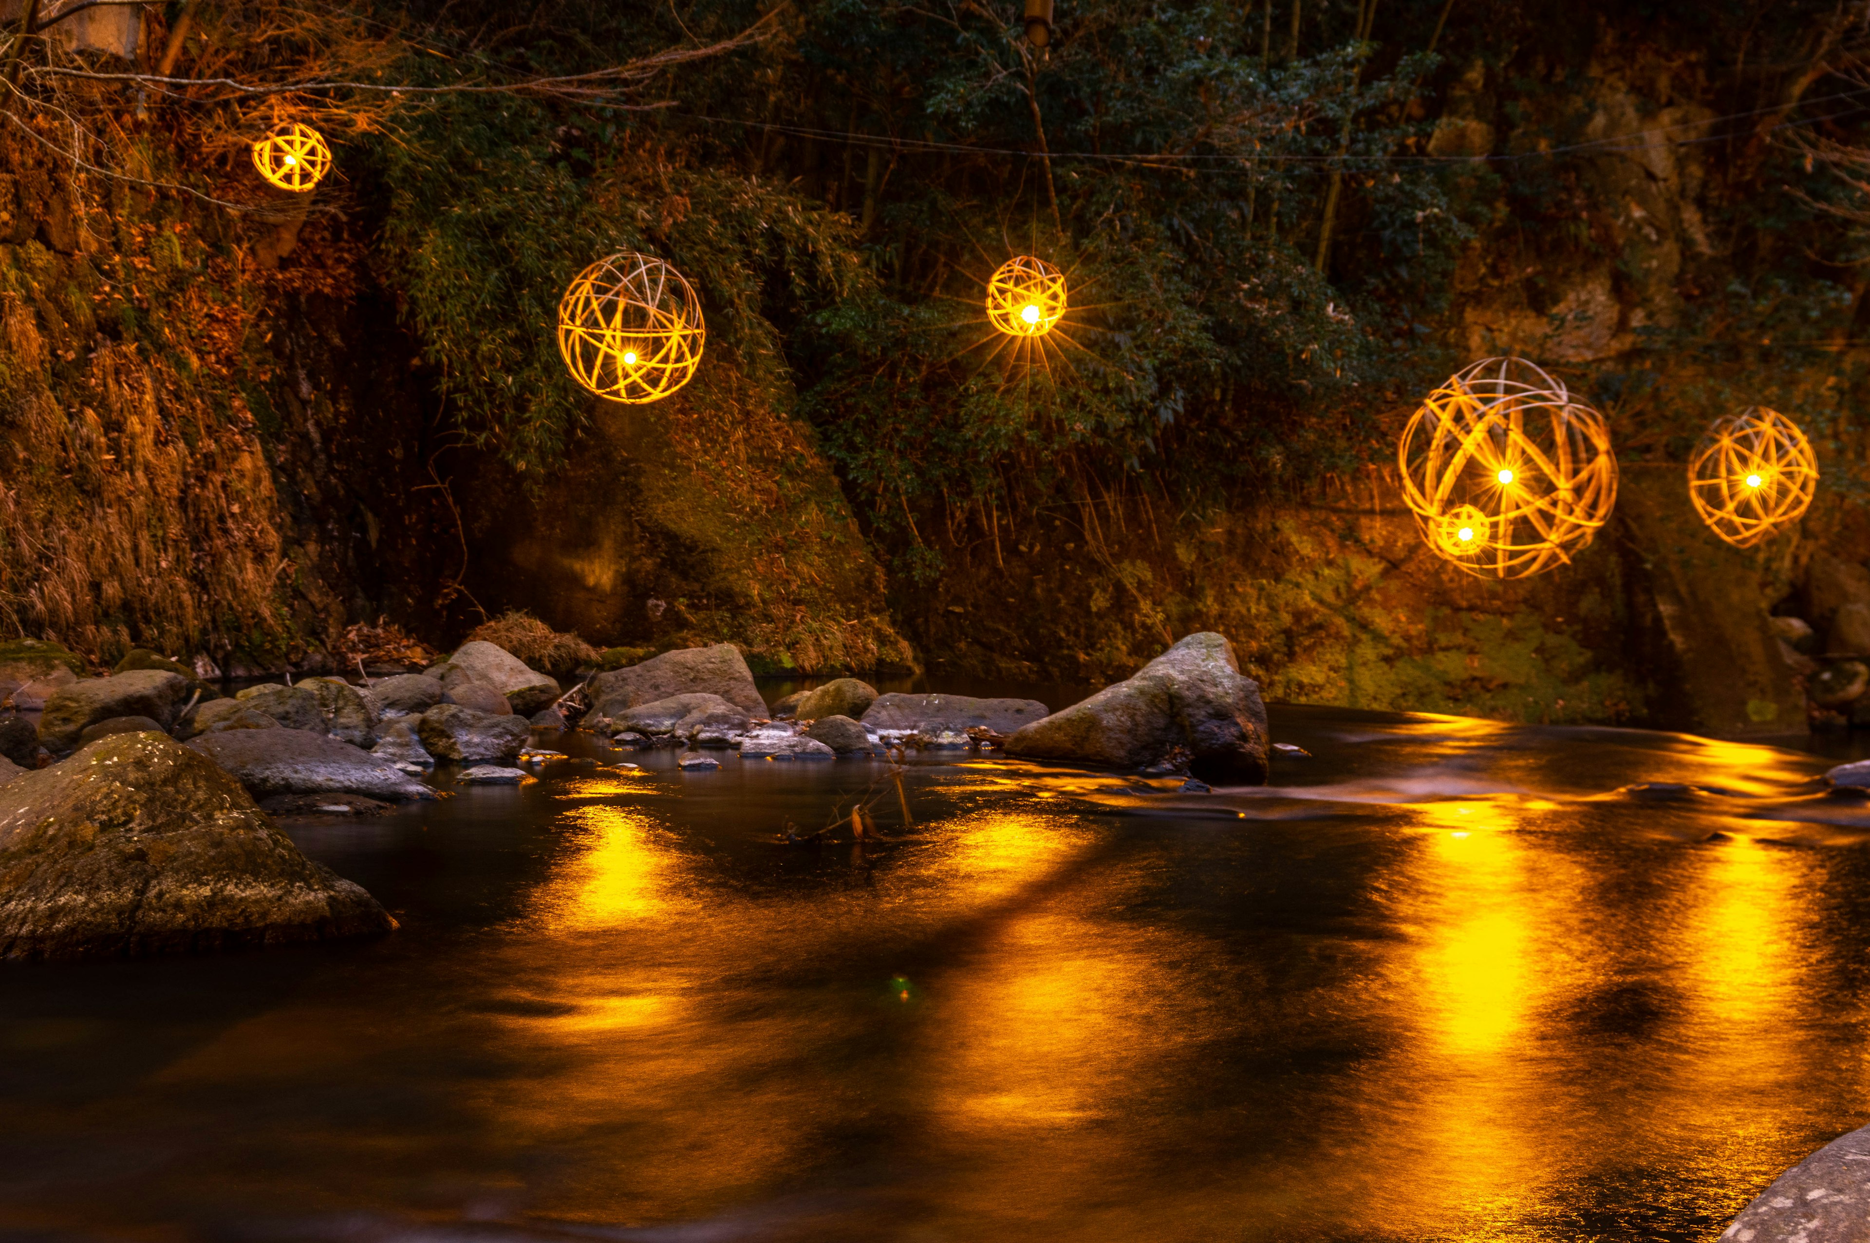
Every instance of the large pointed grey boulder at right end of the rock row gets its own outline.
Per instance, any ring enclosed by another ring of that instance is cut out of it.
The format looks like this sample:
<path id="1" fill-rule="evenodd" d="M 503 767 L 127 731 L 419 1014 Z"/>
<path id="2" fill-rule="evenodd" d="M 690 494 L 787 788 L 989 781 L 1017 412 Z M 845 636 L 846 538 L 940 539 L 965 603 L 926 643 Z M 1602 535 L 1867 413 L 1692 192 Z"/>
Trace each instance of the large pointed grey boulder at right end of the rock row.
<path id="1" fill-rule="evenodd" d="M 1027 725 L 1006 753 L 1098 768 L 1150 768 L 1178 750 L 1208 781 L 1266 781 L 1266 705 L 1225 636 L 1191 634 L 1135 677 Z"/>

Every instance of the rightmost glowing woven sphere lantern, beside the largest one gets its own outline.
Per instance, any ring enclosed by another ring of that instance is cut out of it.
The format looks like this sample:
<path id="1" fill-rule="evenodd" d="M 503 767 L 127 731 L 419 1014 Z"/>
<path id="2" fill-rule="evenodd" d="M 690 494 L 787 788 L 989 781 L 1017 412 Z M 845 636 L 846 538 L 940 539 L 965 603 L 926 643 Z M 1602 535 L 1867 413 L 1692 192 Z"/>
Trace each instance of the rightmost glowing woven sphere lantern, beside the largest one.
<path id="1" fill-rule="evenodd" d="M 1816 490 L 1812 441 L 1765 406 L 1717 419 L 1689 460 L 1694 512 L 1735 548 L 1752 548 L 1776 527 L 1797 521 Z"/>

